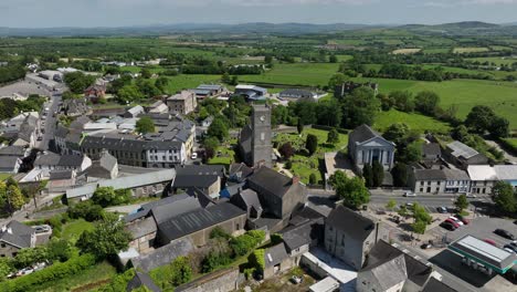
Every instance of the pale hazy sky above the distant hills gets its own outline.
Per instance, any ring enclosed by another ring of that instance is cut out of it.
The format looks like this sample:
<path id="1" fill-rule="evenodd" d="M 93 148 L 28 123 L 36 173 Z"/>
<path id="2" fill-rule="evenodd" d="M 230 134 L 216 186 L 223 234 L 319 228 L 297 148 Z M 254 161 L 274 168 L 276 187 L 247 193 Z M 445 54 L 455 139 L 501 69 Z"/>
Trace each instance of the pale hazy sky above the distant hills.
<path id="1" fill-rule="evenodd" d="M 517 0 L 0 0 L 0 27 L 517 22 Z"/>

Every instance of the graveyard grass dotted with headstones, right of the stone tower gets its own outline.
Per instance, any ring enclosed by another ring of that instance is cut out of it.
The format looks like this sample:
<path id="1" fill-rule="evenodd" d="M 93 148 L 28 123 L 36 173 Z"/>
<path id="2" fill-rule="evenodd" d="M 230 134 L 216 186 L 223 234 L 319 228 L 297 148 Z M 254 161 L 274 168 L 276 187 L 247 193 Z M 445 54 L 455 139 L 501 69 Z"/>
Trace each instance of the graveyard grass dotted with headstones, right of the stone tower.
<path id="1" fill-rule="evenodd" d="M 318 137 L 318 149 L 313 156 L 306 156 L 299 152 L 305 149 L 305 140 L 307 139 L 308 134 L 313 134 Z M 289 169 L 289 171 L 293 175 L 298 176 L 304 184 L 309 182 L 309 177 L 312 174 L 316 175 L 318 184 L 323 184 L 323 169 L 320 169 L 320 163 L 323 163 L 324 154 L 344 149 L 348 144 L 348 135 L 339 134 L 339 142 L 334 146 L 328 145 L 326 144 L 327 135 L 327 131 L 306 128 L 302 133 L 302 137 L 299 137 L 297 134 L 278 134 L 276 137 L 274 137 L 274 140 L 278 142 L 278 146 L 282 146 L 286 142 L 291 142 L 293 148 L 297 150 L 297 154 L 291 158 L 293 167 Z"/>

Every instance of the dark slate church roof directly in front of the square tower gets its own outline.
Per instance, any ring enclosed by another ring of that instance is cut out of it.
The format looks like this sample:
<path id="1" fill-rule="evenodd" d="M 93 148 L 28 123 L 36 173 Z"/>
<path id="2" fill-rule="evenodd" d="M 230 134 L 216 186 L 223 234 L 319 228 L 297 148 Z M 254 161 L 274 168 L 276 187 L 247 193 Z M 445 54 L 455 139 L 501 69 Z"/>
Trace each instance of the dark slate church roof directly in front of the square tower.
<path id="1" fill-rule="evenodd" d="M 255 170 L 247 180 L 279 198 L 284 197 L 293 186 L 293 180 L 289 177 L 265 166 Z"/>

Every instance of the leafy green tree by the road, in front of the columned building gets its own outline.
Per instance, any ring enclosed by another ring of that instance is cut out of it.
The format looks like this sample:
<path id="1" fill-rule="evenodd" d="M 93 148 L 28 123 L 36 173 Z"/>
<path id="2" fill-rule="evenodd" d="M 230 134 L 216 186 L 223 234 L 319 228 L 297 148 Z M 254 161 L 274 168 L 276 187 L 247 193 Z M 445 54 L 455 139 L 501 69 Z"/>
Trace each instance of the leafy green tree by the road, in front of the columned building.
<path id="1" fill-rule="evenodd" d="M 336 189 L 336 195 L 344 199 L 345 206 L 349 208 L 357 209 L 370 201 L 370 192 L 362 178 L 348 178 L 345 173 L 338 170 L 330 177 L 330 182 Z"/>

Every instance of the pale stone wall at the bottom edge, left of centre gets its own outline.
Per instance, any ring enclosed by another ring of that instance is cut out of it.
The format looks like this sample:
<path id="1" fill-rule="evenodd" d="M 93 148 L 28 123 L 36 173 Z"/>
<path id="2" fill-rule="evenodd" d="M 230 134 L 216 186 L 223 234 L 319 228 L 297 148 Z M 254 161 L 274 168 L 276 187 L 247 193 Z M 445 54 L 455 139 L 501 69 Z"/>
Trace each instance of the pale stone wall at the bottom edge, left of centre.
<path id="1" fill-rule="evenodd" d="M 239 289 L 244 275 L 239 268 L 230 268 L 207 274 L 193 282 L 180 285 L 176 292 L 230 292 Z"/>

